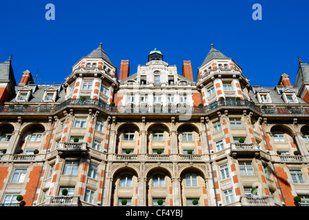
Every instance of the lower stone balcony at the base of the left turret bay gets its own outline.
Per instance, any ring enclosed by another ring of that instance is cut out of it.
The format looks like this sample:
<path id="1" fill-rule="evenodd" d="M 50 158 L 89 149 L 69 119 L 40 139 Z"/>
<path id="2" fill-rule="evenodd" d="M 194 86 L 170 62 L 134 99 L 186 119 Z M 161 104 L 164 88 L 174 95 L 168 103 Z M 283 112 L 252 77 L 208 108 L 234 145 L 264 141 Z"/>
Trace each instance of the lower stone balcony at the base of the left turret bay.
<path id="1" fill-rule="evenodd" d="M 79 196 L 47 196 L 43 206 L 79 206 Z"/>

